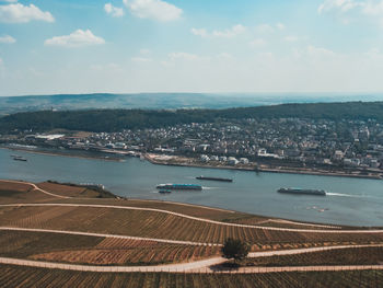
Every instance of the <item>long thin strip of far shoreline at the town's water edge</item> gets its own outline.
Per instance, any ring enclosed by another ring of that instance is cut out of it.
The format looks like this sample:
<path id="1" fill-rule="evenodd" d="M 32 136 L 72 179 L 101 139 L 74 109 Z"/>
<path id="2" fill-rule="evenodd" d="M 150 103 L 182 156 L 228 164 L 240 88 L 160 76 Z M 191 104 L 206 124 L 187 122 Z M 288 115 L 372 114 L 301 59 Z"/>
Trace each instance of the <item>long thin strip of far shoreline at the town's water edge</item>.
<path id="1" fill-rule="evenodd" d="M 189 166 L 189 168 L 201 168 L 201 169 L 221 169 L 221 170 L 236 170 L 236 171 L 246 171 L 246 172 L 255 172 L 255 173 L 286 173 L 286 174 L 301 174 L 301 175 L 316 175 L 316 176 L 332 176 L 332 177 L 352 177 L 352 178 L 367 178 L 367 180 L 383 180 L 382 176 L 379 175 L 358 175 L 358 174 L 344 174 L 339 172 L 320 172 L 320 171 L 302 171 L 302 170 L 279 170 L 279 169 L 265 169 L 259 168 L 254 170 L 254 168 L 244 168 L 244 166 L 216 166 L 208 164 L 194 164 L 194 163 L 170 163 L 162 162 L 154 159 L 151 159 L 148 155 L 144 155 L 144 159 L 154 164 L 154 165 L 170 165 L 170 166 Z M 383 172 L 382 172 L 383 173 Z"/>

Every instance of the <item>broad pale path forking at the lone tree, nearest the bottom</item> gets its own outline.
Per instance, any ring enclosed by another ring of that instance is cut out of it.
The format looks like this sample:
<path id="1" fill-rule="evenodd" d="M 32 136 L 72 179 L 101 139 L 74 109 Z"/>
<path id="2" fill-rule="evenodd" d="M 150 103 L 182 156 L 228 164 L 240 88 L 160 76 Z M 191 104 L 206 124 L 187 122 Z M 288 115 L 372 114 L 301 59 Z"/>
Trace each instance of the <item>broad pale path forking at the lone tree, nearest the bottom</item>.
<path id="1" fill-rule="evenodd" d="M 270 251 L 262 253 L 252 253 L 249 256 L 272 256 L 272 255 L 288 255 L 299 253 L 310 253 L 323 250 L 337 250 L 349 247 L 364 247 L 364 246 L 383 246 L 380 245 L 349 245 L 349 246 L 329 246 L 326 249 L 300 249 L 288 251 Z M 53 262 L 30 261 L 10 257 L 0 257 L 1 264 L 11 264 L 19 266 L 30 267 L 43 267 L 43 268 L 56 268 L 67 270 L 82 270 L 82 272 L 169 272 L 169 273 L 233 273 L 233 270 L 217 270 L 213 265 L 222 264 L 227 260 L 223 257 L 212 257 L 202 261 L 196 261 L 190 263 L 171 264 L 171 265 L 158 265 L 158 266 L 95 266 L 95 265 L 78 265 L 78 264 L 63 264 Z M 367 270 L 367 269 L 383 269 L 383 265 L 327 265 L 327 266 L 287 266 L 287 267 L 243 267 L 235 269 L 235 273 L 280 273 L 280 272 L 327 272 L 327 270 Z"/>

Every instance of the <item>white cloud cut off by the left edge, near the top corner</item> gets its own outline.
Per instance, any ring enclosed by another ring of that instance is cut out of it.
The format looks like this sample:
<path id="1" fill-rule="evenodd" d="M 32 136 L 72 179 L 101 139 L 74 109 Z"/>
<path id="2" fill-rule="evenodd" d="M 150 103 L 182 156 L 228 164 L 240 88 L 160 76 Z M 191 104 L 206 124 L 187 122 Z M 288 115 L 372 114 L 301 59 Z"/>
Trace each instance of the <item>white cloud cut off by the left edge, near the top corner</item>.
<path id="1" fill-rule="evenodd" d="M 0 5 L 0 22 L 4 23 L 27 23 L 33 20 L 54 22 L 55 19 L 49 12 L 43 12 L 34 4 L 23 5 L 14 3 Z"/>

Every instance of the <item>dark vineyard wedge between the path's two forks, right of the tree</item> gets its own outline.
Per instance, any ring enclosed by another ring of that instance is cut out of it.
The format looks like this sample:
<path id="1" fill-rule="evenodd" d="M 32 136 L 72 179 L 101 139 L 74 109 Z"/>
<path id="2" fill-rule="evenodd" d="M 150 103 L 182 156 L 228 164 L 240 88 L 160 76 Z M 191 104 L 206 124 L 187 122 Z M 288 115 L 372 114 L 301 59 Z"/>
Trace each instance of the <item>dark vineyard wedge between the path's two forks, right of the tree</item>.
<path id="1" fill-rule="evenodd" d="M 328 250 L 293 255 L 247 258 L 246 266 L 378 265 L 383 263 L 383 247 Z"/>

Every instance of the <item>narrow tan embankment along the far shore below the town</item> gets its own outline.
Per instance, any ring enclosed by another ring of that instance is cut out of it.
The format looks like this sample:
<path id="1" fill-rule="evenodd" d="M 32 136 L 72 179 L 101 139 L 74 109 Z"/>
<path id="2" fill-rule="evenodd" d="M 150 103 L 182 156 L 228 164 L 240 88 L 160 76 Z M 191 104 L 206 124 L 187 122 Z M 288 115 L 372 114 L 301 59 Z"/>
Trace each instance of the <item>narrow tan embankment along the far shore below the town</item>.
<path id="1" fill-rule="evenodd" d="M 315 171 L 312 169 L 288 169 L 288 168 L 254 168 L 254 166 L 229 166 L 229 165 L 211 165 L 207 163 L 193 163 L 192 161 L 175 162 L 172 160 L 159 160 L 153 154 L 144 154 L 144 159 L 155 165 L 171 165 L 171 166 L 192 166 L 192 168 L 206 168 L 206 169 L 222 169 L 222 170 L 237 170 L 237 171 L 254 171 L 255 173 L 267 172 L 267 173 L 287 173 L 287 174 L 304 174 L 304 175 L 318 175 L 318 176 L 333 176 L 333 177 L 353 177 L 353 178 L 371 178 L 382 180 L 383 172 L 379 174 L 350 174 L 341 172 L 330 171 Z"/>

